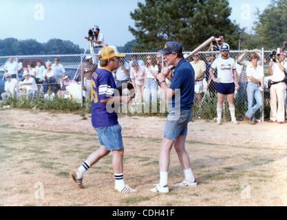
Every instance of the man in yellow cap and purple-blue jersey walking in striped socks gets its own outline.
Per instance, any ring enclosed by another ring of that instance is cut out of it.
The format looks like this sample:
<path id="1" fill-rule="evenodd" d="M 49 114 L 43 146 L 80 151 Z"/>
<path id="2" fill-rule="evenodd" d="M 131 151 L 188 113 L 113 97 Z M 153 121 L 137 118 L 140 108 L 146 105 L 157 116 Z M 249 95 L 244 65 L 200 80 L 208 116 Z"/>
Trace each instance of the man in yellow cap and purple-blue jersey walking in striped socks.
<path id="1" fill-rule="evenodd" d="M 130 102 L 131 97 L 116 96 L 116 82 L 112 72 L 118 69 L 120 58 L 124 54 L 118 53 L 115 46 L 108 46 L 100 52 L 100 68 L 96 69 L 96 77 L 92 78 L 92 125 L 98 134 L 100 148 L 94 151 L 83 162 L 77 170 L 73 170 L 70 175 L 77 186 L 83 188 L 83 174 L 99 159 L 113 152 L 112 166 L 114 169 L 115 189 L 121 193 L 134 192 L 135 190 L 127 186 L 123 177 L 123 137 L 118 115 L 115 111 L 108 111 L 112 104 L 120 102 Z"/>

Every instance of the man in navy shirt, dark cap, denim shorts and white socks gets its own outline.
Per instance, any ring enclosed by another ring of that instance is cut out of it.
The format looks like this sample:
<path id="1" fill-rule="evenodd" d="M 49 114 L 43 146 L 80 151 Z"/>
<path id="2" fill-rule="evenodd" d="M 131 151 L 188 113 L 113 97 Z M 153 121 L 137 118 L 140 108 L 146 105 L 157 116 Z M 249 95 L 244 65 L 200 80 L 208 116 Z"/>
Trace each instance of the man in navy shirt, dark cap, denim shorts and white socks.
<path id="1" fill-rule="evenodd" d="M 193 177 L 189 155 L 184 147 L 187 137 L 187 124 L 192 119 L 192 105 L 194 98 L 195 74 L 193 67 L 184 60 L 182 54 L 182 45 L 178 42 L 169 41 L 165 44 L 163 50 L 164 59 L 169 65 L 176 67 L 171 79 L 171 85 L 168 88 L 165 83 L 164 74 L 158 74 L 160 87 L 167 91 L 167 100 L 169 102 L 169 115 L 165 122 L 164 137 L 160 150 L 160 183 L 151 192 L 169 192 L 167 185 L 168 170 L 170 162 L 170 152 L 174 144 L 178 159 L 184 170 L 185 179 L 176 186 L 197 186 Z"/>

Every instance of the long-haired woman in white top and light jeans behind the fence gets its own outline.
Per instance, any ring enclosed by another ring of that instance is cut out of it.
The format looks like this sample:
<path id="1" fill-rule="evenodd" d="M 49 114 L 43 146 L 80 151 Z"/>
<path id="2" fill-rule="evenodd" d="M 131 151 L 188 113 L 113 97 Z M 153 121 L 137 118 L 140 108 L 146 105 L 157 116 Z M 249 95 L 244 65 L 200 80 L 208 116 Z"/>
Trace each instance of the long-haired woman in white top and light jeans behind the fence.
<path id="1" fill-rule="evenodd" d="M 148 104 L 150 97 L 151 102 L 156 103 L 158 100 L 158 83 L 156 81 L 158 76 L 158 65 L 156 60 L 147 56 L 147 64 L 145 65 L 145 102 Z"/>

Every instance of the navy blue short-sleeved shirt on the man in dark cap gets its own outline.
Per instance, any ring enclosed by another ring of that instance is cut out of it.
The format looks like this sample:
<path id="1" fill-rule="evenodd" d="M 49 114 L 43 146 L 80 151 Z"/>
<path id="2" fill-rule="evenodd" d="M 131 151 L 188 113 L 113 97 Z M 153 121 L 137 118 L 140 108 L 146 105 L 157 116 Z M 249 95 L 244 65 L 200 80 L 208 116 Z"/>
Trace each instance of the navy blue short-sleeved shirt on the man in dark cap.
<path id="1" fill-rule="evenodd" d="M 170 89 L 180 89 L 180 97 L 179 93 L 176 93 L 176 96 L 172 98 L 172 109 L 178 109 L 179 102 L 181 110 L 191 109 L 194 98 L 194 75 L 191 64 L 182 58 L 176 66 L 171 80 Z"/>

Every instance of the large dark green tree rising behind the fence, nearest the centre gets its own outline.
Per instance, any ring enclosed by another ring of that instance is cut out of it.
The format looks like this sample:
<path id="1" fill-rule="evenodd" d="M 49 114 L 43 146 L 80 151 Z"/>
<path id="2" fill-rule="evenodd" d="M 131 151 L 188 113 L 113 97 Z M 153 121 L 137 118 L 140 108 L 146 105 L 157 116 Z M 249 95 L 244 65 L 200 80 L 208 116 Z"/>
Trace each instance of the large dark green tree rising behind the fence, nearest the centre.
<path id="1" fill-rule="evenodd" d="M 191 50 L 221 32 L 231 48 L 238 45 L 240 28 L 228 19 L 227 0 L 146 0 L 130 15 L 136 50 L 158 50 L 166 41 L 179 41 Z"/>

